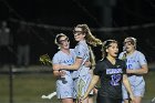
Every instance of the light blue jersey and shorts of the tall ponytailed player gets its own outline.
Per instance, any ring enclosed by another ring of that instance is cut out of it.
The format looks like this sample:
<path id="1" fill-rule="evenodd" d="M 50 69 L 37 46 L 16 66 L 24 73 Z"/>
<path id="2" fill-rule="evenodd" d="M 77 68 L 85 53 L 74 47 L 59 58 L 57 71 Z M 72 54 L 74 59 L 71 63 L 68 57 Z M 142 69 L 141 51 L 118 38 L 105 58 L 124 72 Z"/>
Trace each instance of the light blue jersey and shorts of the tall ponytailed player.
<path id="1" fill-rule="evenodd" d="M 80 41 L 74 50 L 75 50 L 76 58 L 83 60 L 80 69 L 78 70 L 79 78 L 76 83 L 78 96 L 82 96 L 86 92 L 92 79 L 92 75 L 89 72 L 90 68 L 84 65 L 84 63 L 90 60 L 90 51 L 85 41 Z"/>

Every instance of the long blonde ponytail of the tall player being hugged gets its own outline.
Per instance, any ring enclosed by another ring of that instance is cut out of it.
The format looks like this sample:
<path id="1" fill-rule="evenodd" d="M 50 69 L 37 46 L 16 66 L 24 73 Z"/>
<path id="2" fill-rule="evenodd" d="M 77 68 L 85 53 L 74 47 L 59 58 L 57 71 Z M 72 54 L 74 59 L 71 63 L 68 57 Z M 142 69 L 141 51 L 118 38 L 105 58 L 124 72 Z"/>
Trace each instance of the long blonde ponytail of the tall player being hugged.
<path id="1" fill-rule="evenodd" d="M 75 28 L 81 28 L 83 33 L 85 33 L 85 40 L 89 44 L 96 47 L 96 45 L 102 45 L 102 41 L 97 38 L 95 38 L 87 24 L 78 24 Z"/>

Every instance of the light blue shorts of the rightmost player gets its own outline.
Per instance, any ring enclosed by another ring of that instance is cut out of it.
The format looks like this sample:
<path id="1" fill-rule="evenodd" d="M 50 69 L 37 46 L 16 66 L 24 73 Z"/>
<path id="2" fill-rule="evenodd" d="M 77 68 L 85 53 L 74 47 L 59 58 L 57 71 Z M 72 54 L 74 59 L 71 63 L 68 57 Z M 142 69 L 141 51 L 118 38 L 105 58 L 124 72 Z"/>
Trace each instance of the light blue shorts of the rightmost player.
<path id="1" fill-rule="evenodd" d="M 132 87 L 132 91 L 134 93 L 135 96 L 144 96 L 144 93 L 145 93 L 145 81 L 142 80 L 142 81 L 135 81 L 135 83 L 132 81 L 130 81 L 131 83 L 131 87 Z M 122 92 L 123 92 L 123 99 L 128 99 L 128 94 L 127 94 L 127 91 L 125 89 L 125 86 L 123 85 L 122 86 Z"/>

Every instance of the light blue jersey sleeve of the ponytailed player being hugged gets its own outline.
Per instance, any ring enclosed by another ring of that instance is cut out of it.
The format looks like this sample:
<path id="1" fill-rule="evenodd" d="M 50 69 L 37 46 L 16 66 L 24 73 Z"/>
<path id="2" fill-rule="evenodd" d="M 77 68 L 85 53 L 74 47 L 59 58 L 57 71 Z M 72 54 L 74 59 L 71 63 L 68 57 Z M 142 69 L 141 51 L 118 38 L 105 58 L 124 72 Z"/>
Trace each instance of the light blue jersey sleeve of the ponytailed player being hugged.
<path id="1" fill-rule="evenodd" d="M 75 54 L 76 54 L 78 58 L 82 58 L 83 59 L 83 56 L 85 54 L 85 49 L 84 49 L 84 47 L 82 44 L 76 47 Z"/>

